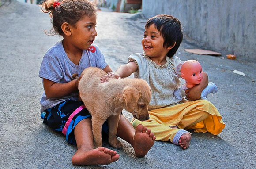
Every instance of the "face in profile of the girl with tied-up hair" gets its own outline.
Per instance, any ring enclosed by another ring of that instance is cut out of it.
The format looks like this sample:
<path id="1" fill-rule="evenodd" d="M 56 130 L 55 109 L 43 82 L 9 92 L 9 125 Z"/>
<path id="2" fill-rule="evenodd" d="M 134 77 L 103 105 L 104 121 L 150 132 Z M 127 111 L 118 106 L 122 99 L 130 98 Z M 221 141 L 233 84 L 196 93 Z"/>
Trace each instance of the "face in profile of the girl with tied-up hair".
<path id="1" fill-rule="evenodd" d="M 90 18 L 85 16 L 76 22 L 75 26 L 71 27 L 73 46 L 80 50 L 89 49 L 90 45 L 93 43 L 95 37 L 97 36 L 95 26 L 95 14 L 93 14 Z"/>

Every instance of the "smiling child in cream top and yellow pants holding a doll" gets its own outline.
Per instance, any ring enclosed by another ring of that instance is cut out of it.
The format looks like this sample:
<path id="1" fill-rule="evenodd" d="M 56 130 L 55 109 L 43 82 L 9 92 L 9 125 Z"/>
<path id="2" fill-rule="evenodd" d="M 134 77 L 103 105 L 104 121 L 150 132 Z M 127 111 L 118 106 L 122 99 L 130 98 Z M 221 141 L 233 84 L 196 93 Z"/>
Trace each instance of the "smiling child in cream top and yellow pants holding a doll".
<path id="1" fill-rule="evenodd" d="M 151 86 L 152 96 L 149 104 L 150 119 L 141 122 L 132 119 L 132 126 L 147 126 L 155 134 L 156 140 L 171 141 L 183 149 L 189 147 L 191 133 L 221 133 L 225 127 L 217 108 L 207 100 L 200 98 L 202 90 L 208 84 L 203 72 L 200 84 L 188 89 L 186 103 L 181 103 L 173 95 L 180 84 L 181 65 L 184 61 L 174 56 L 183 38 L 181 22 L 171 15 L 157 15 L 147 20 L 142 47 L 144 53 L 132 54 L 128 63 L 121 65 L 115 73 L 102 76 L 102 83 L 109 78 L 128 77 L 146 80 Z M 196 100 L 196 101 L 193 101 Z"/>

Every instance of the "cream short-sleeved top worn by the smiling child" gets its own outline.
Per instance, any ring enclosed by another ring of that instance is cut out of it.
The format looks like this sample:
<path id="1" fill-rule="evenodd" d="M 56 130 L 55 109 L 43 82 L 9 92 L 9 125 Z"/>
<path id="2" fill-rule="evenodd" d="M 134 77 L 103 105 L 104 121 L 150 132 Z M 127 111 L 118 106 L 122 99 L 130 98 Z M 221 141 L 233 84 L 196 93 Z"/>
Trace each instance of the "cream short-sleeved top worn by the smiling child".
<path id="1" fill-rule="evenodd" d="M 128 57 L 128 62 L 134 61 L 138 69 L 134 72 L 135 78 L 144 79 L 151 86 L 152 96 L 148 105 L 149 110 L 177 104 L 180 100 L 173 95 L 181 80 L 181 61 L 177 56 L 166 56 L 164 65 L 156 65 L 147 55 L 136 53 Z"/>

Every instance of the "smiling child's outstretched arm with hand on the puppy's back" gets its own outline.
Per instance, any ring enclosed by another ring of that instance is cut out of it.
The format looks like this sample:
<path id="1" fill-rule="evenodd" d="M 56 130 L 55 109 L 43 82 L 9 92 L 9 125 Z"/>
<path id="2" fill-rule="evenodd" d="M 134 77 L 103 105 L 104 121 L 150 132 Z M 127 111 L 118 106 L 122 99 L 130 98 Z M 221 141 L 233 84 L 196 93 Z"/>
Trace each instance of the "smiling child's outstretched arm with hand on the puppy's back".
<path id="1" fill-rule="evenodd" d="M 129 62 L 128 64 L 121 65 L 119 68 L 117 68 L 116 72 L 108 72 L 106 75 L 103 75 L 101 78 L 101 82 L 107 82 L 110 78 L 124 78 L 132 75 L 133 72 L 136 72 L 138 69 L 135 62 Z"/>

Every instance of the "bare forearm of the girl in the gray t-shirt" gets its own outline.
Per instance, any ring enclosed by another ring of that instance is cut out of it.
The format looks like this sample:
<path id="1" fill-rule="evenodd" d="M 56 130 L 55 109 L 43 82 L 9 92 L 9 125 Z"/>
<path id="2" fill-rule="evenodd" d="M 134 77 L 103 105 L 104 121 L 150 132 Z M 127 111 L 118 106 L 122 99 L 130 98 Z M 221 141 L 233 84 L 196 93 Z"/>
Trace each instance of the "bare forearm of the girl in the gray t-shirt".
<path id="1" fill-rule="evenodd" d="M 45 95 L 48 98 L 59 98 L 77 91 L 76 80 L 68 83 L 56 83 L 48 79 L 43 79 Z"/>

